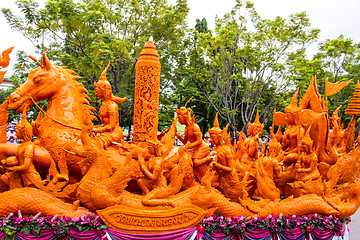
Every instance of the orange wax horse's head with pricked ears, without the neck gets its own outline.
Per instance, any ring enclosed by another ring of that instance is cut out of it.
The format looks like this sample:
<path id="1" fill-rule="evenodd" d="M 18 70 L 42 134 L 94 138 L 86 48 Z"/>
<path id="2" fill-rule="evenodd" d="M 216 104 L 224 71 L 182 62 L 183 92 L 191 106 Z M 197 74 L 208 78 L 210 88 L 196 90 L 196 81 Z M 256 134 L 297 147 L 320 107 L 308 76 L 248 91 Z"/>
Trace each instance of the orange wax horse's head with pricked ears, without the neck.
<path id="1" fill-rule="evenodd" d="M 9 97 L 9 109 L 23 110 L 25 103 L 31 105 L 34 101 L 49 99 L 58 90 L 59 71 L 52 66 L 46 54 L 43 53 L 42 64 L 29 56 L 39 64 L 39 67 L 29 73 L 26 82 L 18 87 Z"/>

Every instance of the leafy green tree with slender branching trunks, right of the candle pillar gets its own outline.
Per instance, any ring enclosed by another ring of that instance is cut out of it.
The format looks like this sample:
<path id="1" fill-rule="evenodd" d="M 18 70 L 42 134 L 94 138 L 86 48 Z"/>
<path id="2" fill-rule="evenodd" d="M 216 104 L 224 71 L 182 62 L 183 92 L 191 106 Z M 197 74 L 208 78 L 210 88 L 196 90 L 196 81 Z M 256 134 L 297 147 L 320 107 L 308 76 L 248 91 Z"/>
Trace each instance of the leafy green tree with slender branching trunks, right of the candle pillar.
<path id="1" fill-rule="evenodd" d="M 199 23 L 199 22 L 198 22 Z M 231 132 L 246 132 L 256 110 L 265 124 L 272 109 L 283 101 L 289 88 L 289 57 L 304 52 L 317 39 L 305 13 L 288 20 L 262 19 L 252 3 L 238 0 L 233 10 L 216 21 L 214 32 L 194 31 L 190 35 L 191 80 Z"/>

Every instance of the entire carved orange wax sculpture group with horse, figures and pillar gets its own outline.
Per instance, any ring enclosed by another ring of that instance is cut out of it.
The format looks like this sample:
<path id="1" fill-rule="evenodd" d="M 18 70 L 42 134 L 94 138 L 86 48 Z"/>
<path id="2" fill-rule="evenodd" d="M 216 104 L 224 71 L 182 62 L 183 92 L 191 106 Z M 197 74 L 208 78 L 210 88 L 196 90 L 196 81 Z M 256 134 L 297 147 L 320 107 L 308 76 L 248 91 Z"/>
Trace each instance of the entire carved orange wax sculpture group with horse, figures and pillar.
<path id="1" fill-rule="evenodd" d="M 215 145 L 210 154 L 195 116 L 185 106 L 157 135 L 160 63 L 152 41 L 136 65 L 132 142 L 120 139 L 116 103 L 126 98 L 112 95 L 106 70 L 95 85 L 104 104 L 99 114 L 102 125 L 94 126 L 95 109 L 85 87 L 76 81 L 79 77 L 52 65 L 45 53 L 41 63 L 31 58 L 39 67 L 0 105 L 1 142 L 4 137 L 6 141 L 7 109 L 22 113 L 20 126 L 26 126 L 19 132 L 24 143 L 0 144 L 1 215 L 19 209 L 26 215 L 98 214 L 116 230 L 158 233 L 189 228 L 219 213 L 345 218 L 360 206 L 355 117 L 345 130 L 340 108 L 329 119 L 315 77 L 304 96 L 295 92 L 285 113 L 274 111 L 268 156 L 249 151 L 250 145 L 257 151 L 263 127 L 258 114 L 249 125 L 250 136 L 239 133 L 234 145 L 216 117 L 209 129 Z M 327 83 L 325 98 L 347 84 Z M 359 84 L 355 91 L 347 114 L 358 115 L 353 104 L 359 102 Z M 37 105 L 41 100 L 48 101 L 46 109 Z M 30 126 L 25 122 L 31 104 L 40 113 Z M 186 126 L 183 138 L 177 133 L 177 121 Z M 185 145 L 174 146 L 175 136 Z"/>

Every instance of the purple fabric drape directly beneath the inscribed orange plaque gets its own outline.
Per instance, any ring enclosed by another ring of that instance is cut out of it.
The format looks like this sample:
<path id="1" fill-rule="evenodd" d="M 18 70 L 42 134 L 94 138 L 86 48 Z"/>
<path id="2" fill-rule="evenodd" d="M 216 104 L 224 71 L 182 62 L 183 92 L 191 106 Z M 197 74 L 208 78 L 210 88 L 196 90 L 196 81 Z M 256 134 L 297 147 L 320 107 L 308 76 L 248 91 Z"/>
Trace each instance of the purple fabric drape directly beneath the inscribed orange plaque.
<path id="1" fill-rule="evenodd" d="M 167 232 L 167 233 L 156 233 L 156 234 L 133 234 L 133 233 L 124 233 L 118 232 L 112 229 L 108 229 L 108 232 L 119 240 L 172 240 L 178 239 L 183 240 L 187 238 L 196 230 L 196 227 L 187 228 L 184 230 Z"/>

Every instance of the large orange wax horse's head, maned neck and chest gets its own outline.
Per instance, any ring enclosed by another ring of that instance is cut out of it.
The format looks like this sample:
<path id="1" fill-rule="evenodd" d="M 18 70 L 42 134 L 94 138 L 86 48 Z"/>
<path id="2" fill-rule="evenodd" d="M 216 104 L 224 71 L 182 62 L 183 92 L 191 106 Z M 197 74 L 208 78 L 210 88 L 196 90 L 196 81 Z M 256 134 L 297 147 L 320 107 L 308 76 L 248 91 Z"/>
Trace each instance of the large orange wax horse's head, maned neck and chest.
<path id="1" fill-rule="evenodd" d="M 41 100 L 48 100 L 46 112 L 41 112 L 34 126 L 36 144 L 45 147 L 60 169 L 60 174 L 79 179 L 82 177 L 78 162 L 81 157 L 73 149 L 81 146 L 80 133 L 84 118 L 93 120 L 92 107 L 89 106 L 87 90 L 76 79 L 72 70 L 51 65 L 43 53 L 42 64 L 29 73 L 26 82 L 9 97 L 9 109 L 23 110 Z M 43 115 L 43 116 L 42 116 Z M 40 120 L 40 124 L 39 121 Z"/>

